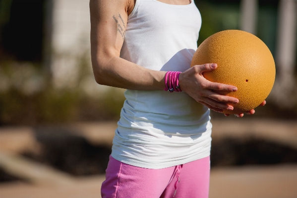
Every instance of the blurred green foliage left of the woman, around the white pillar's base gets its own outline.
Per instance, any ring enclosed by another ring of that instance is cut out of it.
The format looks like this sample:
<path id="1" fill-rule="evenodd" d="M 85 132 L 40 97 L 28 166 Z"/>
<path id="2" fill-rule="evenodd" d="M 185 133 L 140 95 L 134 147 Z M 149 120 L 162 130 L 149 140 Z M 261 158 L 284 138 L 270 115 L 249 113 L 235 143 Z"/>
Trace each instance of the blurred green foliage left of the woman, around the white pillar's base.
<path id="1" fill-rule="evenodd" d="M 80 86 L 90 77 L 87 57 L 77 58 L 76 84 L 64 88 L 56 88 L 41 66 L 0 62 L 0 125 L 118 120 L 124 101 L 122 90 L 111 87 L 93 97 Z"/>

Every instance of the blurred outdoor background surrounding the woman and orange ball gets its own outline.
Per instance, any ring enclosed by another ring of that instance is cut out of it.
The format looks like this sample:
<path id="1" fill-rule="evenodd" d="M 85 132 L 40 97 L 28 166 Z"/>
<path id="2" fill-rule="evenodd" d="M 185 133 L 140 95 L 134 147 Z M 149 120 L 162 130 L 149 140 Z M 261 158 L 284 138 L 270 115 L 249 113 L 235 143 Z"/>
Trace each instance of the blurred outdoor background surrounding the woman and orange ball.
<path id="1" fill-rule="evenodd" d="M 210 198 L 297 198 L 297 0 L 196 0 L 276 63 L 253 116 L 212 112 Z M 95 82 L 89 0 L 0 0 L 0 198 L 98 198 L 123 89 Z"/>

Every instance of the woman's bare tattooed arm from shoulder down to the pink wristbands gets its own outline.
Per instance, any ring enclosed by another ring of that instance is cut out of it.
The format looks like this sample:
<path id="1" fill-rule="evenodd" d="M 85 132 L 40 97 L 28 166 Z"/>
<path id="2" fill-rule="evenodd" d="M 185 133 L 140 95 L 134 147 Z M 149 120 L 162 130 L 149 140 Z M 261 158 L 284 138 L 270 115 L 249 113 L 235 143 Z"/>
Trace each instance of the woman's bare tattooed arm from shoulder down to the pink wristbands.
<path id="1" fill-rule="evenodd" d="M 165 71 L 155 71 L 119 58 L 133 0 L 90 0 L 91 57 L 99 84 L 137 90 L 164 89 Z"/>

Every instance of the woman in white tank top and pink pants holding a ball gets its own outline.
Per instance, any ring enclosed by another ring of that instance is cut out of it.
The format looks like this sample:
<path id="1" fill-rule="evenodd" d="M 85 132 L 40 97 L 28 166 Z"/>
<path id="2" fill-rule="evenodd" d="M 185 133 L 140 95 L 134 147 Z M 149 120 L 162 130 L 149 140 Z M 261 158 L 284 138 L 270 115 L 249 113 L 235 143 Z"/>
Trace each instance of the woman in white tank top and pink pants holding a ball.
<path id="1" fill-rule="evenodd" d="M 238 99 L 215 92 L 237 87 L 203 77 L 216 64 L 189 68 L 201 27 L 193 0 L 90 0 L 90 13 L 95 79 L 127 89 L 102 197 L 207 198 L 209 111 Z"/>

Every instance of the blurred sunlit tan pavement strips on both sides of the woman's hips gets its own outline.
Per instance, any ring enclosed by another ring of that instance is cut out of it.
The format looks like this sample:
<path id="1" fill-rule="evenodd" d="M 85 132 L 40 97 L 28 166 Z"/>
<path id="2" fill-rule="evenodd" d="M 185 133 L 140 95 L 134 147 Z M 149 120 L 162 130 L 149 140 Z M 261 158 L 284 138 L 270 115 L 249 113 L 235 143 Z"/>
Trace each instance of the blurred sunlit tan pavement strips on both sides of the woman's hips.
<path id="1" fill-rule="evenodd" d="M 213 138 L 265 138 L 297 148 L 297 122 L 275 120 L 213 121 Z M 117 125 L 70 125 L 94 144 L 111 145 Z M 100 198 L 104 175 L 73 177 L 18 153 L 38 150 L 31 128 L 0 128 L 0 167 L 29 183 L 0 183 L 0 198 Z M 209 198 L 297 198 L 297 164 L 212 168 Z"/>

